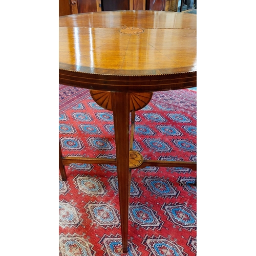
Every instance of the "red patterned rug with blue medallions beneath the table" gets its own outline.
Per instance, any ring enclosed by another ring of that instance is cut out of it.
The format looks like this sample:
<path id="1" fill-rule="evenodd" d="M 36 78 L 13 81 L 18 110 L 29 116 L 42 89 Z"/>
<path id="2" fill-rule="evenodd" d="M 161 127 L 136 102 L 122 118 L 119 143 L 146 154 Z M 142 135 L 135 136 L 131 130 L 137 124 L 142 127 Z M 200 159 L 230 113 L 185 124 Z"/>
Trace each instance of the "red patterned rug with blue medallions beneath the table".
<path id="1" fill-rule="evenodd" d="M 136 112 L 134 150 L 145 159 L 196 161 L 196 97 L 155 92 Z M 114 158 L 113 114 L 89 90 L 60 85 L 59 139 L 63 156 Z M 59 177 L 59 255 L 122 255 L 116 167 L 71 164 L 66 171 L 66 182 Z M 195 177 L 181 167 L 132 170 L 125 255 L 196 255 Z"/>

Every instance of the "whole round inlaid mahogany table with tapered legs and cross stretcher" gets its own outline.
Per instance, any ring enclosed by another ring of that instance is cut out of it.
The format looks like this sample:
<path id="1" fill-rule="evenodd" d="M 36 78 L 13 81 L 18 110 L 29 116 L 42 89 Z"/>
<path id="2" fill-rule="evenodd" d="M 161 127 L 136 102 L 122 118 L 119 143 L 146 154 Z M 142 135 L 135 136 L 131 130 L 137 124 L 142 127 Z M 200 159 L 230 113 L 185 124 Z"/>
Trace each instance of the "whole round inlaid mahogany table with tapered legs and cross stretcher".
<path id="1" fill-rule="evenodd" d="M 144 160 L 129 142 L 134 135 L 130 112 L 134 124 L 134 111 L 150 101 L 152 92 L 196 87 L 196 34 L 196 15 L 186 13 L 111 11 L 59 17 L 59 83 L 90 89 L 99 105 L 113 111 L 116 143 L 116 159 L 63 157 L 59 146 L 61 177 L 67 179 L 64 166 L 70 163 L 117 166 L 124 253 L 131 168 L 196 170 L 196 162 Z"/>

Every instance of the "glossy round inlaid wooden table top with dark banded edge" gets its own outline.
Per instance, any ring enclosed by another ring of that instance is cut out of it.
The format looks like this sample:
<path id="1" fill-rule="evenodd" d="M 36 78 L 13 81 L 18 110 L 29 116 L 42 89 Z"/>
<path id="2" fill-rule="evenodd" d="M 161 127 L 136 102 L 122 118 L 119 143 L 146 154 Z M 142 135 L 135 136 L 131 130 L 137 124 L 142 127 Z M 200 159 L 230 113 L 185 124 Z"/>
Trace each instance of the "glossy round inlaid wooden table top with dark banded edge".
<path id="1" fill-rule="evenodd" d="M 196 15 L 110 11 L 59 17 L 59 82 L 120 92 L 190 88 Z"/>

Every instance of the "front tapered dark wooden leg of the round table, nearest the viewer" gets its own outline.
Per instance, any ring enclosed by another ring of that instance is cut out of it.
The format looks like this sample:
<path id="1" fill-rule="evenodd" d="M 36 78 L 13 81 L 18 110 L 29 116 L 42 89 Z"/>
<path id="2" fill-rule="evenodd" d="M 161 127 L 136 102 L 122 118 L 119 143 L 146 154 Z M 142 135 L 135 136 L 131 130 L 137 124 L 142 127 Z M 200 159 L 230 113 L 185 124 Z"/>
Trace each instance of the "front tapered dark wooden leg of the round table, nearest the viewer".
<path id="1" fill-rule="evenodd" d="M 114 116 L 119 205 L 123 253 L 127 253 L 128 210 L 131 175 L 129 169 L 130 94 L 111 92 Z"/>

